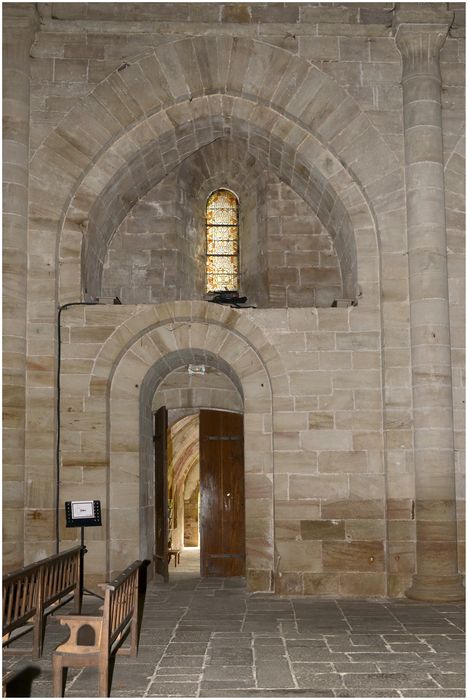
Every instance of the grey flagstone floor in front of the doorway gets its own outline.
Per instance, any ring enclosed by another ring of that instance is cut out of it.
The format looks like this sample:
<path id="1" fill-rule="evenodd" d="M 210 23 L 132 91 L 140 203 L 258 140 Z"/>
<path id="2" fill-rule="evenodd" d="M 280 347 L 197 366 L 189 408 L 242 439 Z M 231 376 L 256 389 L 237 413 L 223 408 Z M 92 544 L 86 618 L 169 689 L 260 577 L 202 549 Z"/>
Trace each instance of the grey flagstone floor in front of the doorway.
<path id="1" fill-rule="evenodd" d="M 465 697 L 461 604 L 248 594 L 243 579 L 201 579 L 197 550 L 170 574 L 148 585 L 139 653 L 117 657 L 112 697 Z M 49 618 L 41 660 L 4 657 L 10 697 L 52 696 L 66 636 Z M 70 670 L 66 696 L 96 697 L 96 672 Z"/>

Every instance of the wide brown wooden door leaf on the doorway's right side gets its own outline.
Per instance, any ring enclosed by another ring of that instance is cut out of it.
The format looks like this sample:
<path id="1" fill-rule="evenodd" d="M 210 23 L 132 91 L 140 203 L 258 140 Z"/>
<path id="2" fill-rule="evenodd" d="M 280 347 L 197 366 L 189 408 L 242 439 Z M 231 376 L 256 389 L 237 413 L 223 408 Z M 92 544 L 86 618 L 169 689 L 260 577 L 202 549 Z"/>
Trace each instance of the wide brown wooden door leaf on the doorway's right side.
<path id="1" fill-rule="evenodd" d="M 243 416 L 200 411 L 200 570 L 245 574 Z"/>

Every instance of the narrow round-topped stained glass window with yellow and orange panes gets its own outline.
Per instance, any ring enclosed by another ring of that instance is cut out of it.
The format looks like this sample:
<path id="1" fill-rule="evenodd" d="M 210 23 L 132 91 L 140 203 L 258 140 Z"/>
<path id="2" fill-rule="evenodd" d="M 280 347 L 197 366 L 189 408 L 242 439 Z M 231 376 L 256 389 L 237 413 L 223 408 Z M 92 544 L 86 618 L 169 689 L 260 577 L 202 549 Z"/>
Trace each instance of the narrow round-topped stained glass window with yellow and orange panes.
<path id="1" fill-rule="evenodd" d="M 239 202 L 216 190 L 206 203 L 206 291 L 239 289 Z"/>

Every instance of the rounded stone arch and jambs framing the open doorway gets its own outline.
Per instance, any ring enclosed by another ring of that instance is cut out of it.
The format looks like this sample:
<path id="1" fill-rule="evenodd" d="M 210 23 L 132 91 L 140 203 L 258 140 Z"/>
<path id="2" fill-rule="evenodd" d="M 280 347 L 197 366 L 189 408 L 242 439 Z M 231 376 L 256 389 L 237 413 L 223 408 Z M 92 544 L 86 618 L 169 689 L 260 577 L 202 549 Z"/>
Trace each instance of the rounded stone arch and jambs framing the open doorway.
<path id="1" fill-rule="evenodd" d="M 251 321 L 204 302 L 142 311 L 116 330 L 95 363 L 90 394 L 102 391 L 103 381 L 109 387 L 109 575 L 131 559 L 151 557 L 151 396 L 168 372 L 190 358 L 222 368 L 244 397 L 247 579 L 251 590 L 273 590 L 272 402 L 273 395 L 288 393 L 287 378 L 275 349 Z"/>

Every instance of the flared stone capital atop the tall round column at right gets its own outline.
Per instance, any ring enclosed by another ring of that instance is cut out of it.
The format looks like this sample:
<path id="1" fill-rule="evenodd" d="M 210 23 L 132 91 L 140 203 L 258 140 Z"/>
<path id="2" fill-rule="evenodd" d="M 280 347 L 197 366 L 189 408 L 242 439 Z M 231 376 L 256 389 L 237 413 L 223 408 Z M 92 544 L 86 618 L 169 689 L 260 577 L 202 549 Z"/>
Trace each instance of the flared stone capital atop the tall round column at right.
<path id="1" fill-rule="evenodd" d="M 453 12 L 434 6 L 414 7 L 408 3 L 397 10 L 393 20 L 395 43 L 403 63 L 403 81 L 418 75 L 440 80 L 439 54 L 453 22 Z"/>

